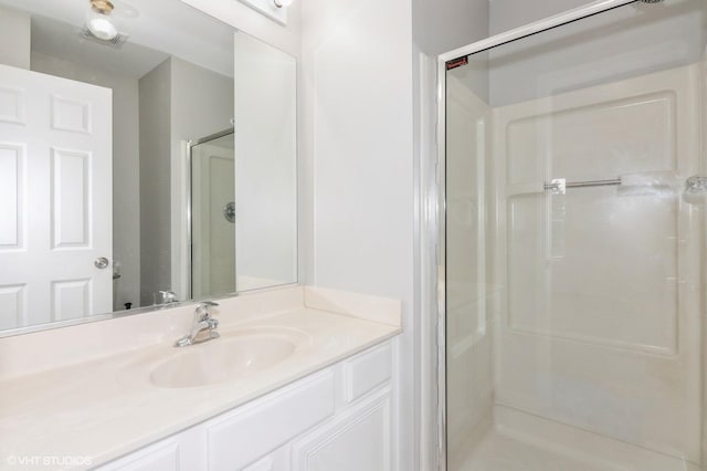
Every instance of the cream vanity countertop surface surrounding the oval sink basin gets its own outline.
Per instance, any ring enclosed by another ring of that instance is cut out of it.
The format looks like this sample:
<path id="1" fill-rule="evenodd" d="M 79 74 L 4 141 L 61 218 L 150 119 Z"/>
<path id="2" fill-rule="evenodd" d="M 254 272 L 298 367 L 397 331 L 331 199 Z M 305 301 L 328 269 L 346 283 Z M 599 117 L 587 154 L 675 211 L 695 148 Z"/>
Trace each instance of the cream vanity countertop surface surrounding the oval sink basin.
<path id="1" fill-rule="evenodd" d="M 78 470 L 105 463 L 401 332 L 399 325 L 305 306 L 255 318 L 222 321 L 219 331 L 228 337 L 229 333 L 253 327 L 295 329 L 307 341 L 268 368 L 200 387 L 158 387 L 150 381 L 150 374 L 175 355 L 209 348 L 221 338 L 175 348 L 175 338 L 170 337 L 145 348 L 1 379 L 0 470 Z M 20 465 L 19 461 L 28 457 L 34 461 L 44 457 L 83 457 L 89 465 Z"/>

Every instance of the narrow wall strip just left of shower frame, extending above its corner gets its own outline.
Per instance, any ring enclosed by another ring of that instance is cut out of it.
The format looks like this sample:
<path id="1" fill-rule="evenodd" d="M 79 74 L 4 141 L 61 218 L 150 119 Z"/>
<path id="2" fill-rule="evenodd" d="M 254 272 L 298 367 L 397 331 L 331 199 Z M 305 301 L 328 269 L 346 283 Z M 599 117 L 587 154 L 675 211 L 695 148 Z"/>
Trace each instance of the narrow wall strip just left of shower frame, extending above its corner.
<path id="1" fill-rule="evenodd" d="M 415 401 L 420 408 L 420 468 L 436 468 L 437 432 L 437 161 L 435 135 L 436 55 L 488 36 L 486 0 L 413 0 L 415 257 L 413 362 L 419 370 Z M 474 73 L 476 94 L 487 101 L 486 63 Z"/>

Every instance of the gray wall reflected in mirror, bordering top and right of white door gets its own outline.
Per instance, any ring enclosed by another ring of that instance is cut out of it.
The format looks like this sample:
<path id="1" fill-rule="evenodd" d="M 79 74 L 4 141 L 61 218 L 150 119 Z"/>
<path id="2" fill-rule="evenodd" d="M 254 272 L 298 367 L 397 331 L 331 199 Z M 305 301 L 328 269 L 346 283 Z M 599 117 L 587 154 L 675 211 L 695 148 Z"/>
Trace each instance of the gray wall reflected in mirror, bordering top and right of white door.
<path id="1" fill-rule="evenodd" d="M 106 73 L 38 51 L 31 69 L 113 90 L 113 262 L 120 265 L 115 281 L 114 310 L 137 306 L 140 292 L 140 193 L 138 81 Z"/>

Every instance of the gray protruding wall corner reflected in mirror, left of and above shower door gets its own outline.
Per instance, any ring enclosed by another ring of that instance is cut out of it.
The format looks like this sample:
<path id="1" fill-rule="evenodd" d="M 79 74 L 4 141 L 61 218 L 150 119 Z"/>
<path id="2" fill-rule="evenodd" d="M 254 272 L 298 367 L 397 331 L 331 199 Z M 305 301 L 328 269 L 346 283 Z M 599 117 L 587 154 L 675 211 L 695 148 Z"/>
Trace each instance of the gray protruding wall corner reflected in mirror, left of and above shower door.
<path id="1" fill-rule="evenodd" d="M 188 140 L 231 126 L 233 80 L 170 57 L 139 82 L 141 305 L 188 293 Z"/>

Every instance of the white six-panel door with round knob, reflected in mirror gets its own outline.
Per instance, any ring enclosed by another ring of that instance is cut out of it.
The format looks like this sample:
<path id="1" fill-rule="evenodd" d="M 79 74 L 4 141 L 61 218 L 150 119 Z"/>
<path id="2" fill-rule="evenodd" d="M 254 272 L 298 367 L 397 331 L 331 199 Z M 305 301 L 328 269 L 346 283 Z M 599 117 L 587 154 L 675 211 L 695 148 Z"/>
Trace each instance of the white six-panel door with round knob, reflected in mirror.
<path id="1" fill-rule="evenodd" d="M 109 88 L 0 65 L 0 329 L 112 311 L 112 148 Z"/>

